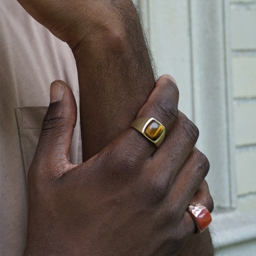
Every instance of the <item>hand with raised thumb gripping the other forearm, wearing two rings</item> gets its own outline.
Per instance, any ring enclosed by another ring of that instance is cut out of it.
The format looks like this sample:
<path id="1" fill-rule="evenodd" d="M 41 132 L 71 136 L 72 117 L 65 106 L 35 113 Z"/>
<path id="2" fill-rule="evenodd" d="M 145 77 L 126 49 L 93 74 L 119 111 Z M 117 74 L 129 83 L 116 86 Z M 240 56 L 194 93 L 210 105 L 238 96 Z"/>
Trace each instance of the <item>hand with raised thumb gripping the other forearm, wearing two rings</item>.
<path id="1" fill-rule="evenodd" d="M 76 103 L 60 83 L 61 100 L 62 87 L 51 85 L 55 102 L 28 172 L 24 256 L 177 255 L 196 230 L 186 212 L 193 195 L 210 211 L 213 207 L 204 181 L 209 163 L 194 148 L 196 126 L 178 112 L 177 86 L 162 76 L 137 115 L 164 124 L 167 134 L 159 148 L 129 128 L 99 154 L 73 165 L 68 156 Z"/>

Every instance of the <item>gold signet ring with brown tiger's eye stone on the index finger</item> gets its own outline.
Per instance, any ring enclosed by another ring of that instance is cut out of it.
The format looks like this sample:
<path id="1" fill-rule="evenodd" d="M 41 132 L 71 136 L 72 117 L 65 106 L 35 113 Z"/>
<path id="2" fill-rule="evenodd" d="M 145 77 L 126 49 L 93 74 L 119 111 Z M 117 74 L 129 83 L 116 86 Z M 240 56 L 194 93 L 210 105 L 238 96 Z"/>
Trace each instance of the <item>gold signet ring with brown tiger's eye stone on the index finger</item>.
<path id="1" fill-rule="evenodd" d="M 139 131 L 148 140 L 153 142 L 156 147 L 159 147 L 164 140 L 165 127 L 159 123 L 155 118 L 141 117 L 135 119 L 131 127 Z"/>

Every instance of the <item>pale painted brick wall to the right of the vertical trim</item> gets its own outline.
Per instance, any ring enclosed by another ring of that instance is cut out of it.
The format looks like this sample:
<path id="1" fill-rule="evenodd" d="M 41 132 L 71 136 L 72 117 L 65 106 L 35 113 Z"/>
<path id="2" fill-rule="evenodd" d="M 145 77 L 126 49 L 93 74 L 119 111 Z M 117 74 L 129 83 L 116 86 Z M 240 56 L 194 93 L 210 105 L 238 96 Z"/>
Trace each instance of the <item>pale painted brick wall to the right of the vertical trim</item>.
<path id="1" fill-rule="evenodd" d="M 256 214 L 256 1 L 231 1 L 238 209 Z"/>

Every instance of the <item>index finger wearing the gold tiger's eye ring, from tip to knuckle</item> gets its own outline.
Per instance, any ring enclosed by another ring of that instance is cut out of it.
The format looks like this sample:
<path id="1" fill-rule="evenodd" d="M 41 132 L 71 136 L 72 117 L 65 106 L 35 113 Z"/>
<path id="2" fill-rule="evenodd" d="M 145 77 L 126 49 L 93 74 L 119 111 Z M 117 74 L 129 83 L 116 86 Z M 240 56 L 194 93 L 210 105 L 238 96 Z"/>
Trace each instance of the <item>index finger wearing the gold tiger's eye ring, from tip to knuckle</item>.
<path id="1" fill-rule="evenodd" d="M 178 116 L 179 91 L 174 81 L 172 76 L 161 76 L 156 82 L 156 88 L 137 115 L 138 118 L 156 118 L 165 126 L 167 133 L 172 129 Z M 121 180 L 123 180 L 126 179 L 127 175 L 130 178 L 133 174 L 139 174 L 142 165 L 145 164 L 155 149 L 156 146 L 152 142 L 140 132 L 130 128 L 95 157 L 100 159 L 98 163 L 104 161 L 104 166 L 109 167 L 111 179 L 116 180 L 118 176 L 122 177 Z"/>

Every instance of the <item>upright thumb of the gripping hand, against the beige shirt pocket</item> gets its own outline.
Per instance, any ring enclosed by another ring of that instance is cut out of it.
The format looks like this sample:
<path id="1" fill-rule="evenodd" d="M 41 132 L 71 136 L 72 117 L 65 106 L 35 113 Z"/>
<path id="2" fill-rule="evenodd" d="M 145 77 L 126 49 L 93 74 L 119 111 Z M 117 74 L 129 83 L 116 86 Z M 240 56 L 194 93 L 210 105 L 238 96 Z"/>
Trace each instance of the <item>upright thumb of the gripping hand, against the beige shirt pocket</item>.
<path id="1" fill-rule="evenodd" d="M 50 175 L 61 175 L 68 171 L 76 116 L 76 100 L 72 90 L 65 82 L 54 81 L 50 89 L 50 105 L 44 116 L 33 160 L 41 171 L 50 172 Z"/>

